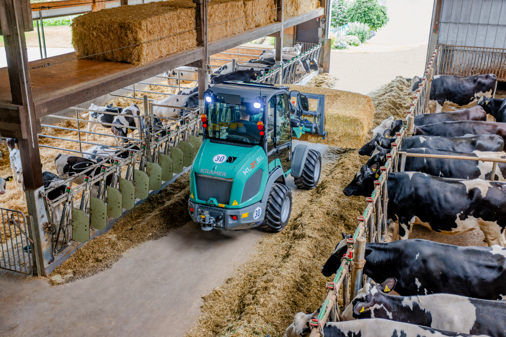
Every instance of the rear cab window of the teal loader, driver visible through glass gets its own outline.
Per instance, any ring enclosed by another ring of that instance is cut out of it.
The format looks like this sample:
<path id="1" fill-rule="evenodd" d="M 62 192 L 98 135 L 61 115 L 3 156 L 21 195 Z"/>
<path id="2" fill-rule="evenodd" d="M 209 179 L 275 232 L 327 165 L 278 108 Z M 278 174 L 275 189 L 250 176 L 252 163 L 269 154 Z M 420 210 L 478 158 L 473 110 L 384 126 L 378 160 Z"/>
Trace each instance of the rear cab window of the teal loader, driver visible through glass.
<path id="1" fill-rule="evenodd" d="M 254 144 L 263 141 L 262 130 L 257 126 L 258 122 L 264 121 L 263 105 L 257 109 L 253 103 L 213 102 L 207 107 L 207 118 L 207 137 Z"/>

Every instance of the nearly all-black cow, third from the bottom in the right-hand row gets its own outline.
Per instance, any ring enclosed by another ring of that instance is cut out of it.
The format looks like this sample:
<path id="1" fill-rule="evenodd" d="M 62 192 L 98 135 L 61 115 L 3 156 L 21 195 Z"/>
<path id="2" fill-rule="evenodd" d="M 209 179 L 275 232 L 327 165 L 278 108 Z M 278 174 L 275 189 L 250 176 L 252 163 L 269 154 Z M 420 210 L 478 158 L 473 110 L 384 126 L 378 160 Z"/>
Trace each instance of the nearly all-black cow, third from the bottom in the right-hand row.
<path id="1" fill-rule="evenodd" d="M 343 233 L 321 273 L 331 276 L 341 265 L 352 235 Z M 506 249 L 460 247 L 409 239 L 366 243 L 363 273 L 383 282 L 397 278 L 395 291 L 402 296 L 455 294 L 485 300 L 506 300 Z"/>

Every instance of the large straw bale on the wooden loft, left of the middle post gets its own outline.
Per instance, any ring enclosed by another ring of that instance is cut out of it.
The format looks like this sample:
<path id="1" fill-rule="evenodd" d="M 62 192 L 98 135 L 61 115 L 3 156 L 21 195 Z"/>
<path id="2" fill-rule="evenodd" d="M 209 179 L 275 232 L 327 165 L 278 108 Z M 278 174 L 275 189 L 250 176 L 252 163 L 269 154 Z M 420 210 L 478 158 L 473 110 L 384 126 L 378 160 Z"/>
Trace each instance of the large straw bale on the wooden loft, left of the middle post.
<path id="1" fill-rule="evenodd" d="M 120 6 L 75 18 L 72 21 L 72 43 L 76 55 L 84 57 L 190 30 L 92 57 L 143 65 L 195 47 L 196 32 L 191 30 L 193 28 L 195 4 L 190 0 Z"/>

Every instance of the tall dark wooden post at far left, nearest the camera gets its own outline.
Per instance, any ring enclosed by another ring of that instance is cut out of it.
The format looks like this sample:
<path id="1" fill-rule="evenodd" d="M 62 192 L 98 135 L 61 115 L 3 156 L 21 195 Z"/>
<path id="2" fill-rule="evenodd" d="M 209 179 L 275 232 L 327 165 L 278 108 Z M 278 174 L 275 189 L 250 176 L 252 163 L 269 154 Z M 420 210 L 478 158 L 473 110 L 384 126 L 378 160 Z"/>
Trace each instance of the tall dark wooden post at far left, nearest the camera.
<path id="1" fill-rule="evenodd" d="M 28 7 L 27 7 L 28 6 Z M 51 238 L 45 233 L 44 223 L 47 219 L 44 199 L 39 193 L 44 191 L 42 181 L 42 168 L 37 141 L 37 123 L 33 105 L 28 70 L 28 56 L 26 53 L 25 31 L 33 30 L 31 15 L 29 22 L 25 22 L 25 11 L 30 13 L 30 4 L 22 0 L 6 0 L 7 25 L 2 27 L 4 44 L 7 56 L 9 82 L 11 85 L 12 103 L 21 106 L 19 118 L 21 128 L 18 139 L 21 166 L 23 168 L 23 181 L 26 195 L 28 215 L 31 216 L 30 230 L 32 239 L 36 241 L 37 259 L 39 265 L 34 270 L 46 275 L 46 267 L 54 260 L 51 247 Z M 26 7 L 26 8 L 25 8 Z M 30 26 L 31 25 L 31 26 Z"/>

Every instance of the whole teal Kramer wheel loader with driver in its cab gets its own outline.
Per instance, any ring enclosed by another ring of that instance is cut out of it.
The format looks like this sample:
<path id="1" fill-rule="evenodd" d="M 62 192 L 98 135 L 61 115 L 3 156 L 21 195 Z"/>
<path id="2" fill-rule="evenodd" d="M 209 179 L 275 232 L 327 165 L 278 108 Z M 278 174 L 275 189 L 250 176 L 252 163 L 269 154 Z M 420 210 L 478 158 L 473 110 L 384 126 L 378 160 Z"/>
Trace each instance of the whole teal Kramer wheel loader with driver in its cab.
<path id="1" fill-rule="evenodd" d="M 308 95 L 318 104 L 324 98 L 236 81 L 204 92 L 202 145 L 190 171 L 188 201 L 190 216 L 203 230 L 260 226 L 278 232 L 286 226 L 292 203 L 288 174 L 303 189 L 320 179 L 320 153 L 303 144 L 292 149 L 292 136 L 326 135 L 324 107 L 309 111 Z"/>

